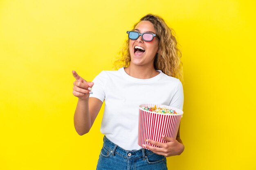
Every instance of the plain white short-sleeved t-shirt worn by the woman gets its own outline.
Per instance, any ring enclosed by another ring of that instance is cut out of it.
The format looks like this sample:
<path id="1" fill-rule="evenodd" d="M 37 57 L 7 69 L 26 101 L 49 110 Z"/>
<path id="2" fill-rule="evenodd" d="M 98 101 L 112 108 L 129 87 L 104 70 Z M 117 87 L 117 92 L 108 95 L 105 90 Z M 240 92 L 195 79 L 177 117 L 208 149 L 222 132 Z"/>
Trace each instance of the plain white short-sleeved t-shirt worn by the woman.
<path id="1" fill-rule="evenodd" d="M 93 82 L 90 97 L 105 100 L 101 133 L 125 150 L 138 150 L 139 105 L 162 104 L 183 108 L 183 87 L 179 79 L 162 71 L 153 78 L 139 79 L 124 68 L 102 71 Z"/>

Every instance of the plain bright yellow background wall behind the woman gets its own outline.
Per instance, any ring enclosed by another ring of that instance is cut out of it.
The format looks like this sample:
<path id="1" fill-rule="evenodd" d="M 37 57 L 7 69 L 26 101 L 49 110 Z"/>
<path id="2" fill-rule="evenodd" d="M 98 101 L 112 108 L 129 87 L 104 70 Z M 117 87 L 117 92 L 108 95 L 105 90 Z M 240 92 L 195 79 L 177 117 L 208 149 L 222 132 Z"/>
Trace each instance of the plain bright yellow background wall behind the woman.
<path id="1" fill-rule="evenodd" d="M 175 170 L 255 170 L 255 1 L 1 0 L 0 169 L 95 169 L 103 108 L 91 131 L 73 124 L 76 70 L 112 70 L 126 31 L 147 13 L 176 34 L 184 116 Z"/>

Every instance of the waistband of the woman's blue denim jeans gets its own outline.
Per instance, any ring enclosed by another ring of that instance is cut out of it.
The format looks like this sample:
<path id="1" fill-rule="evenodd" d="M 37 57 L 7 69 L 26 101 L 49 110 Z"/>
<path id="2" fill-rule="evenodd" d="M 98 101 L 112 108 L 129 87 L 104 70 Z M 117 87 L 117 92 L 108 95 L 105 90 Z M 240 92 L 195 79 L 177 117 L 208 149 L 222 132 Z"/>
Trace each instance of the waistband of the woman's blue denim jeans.
<path id="1" fill-rule="evenodd" d="M 105 148 L 110 149 L 112 151 L 113 156 L 117 154 L 127 159 L 137 159 L 143 157 L 144 160 L 146 156 L 154 154 L 151 150 L 147 150 L 144 148 L 141 148 L 139 150 L 125 150 L 118 146 L 117 144 L 111 142 L 106 136 L 104 136 L 103 141 L 103 146 Z"/>

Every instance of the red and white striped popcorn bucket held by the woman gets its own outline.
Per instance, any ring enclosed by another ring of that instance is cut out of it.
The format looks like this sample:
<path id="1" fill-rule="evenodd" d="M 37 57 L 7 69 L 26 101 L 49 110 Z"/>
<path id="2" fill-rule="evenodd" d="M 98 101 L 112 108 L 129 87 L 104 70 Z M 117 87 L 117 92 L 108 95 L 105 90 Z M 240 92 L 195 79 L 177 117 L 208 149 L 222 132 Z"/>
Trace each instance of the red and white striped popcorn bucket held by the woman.
<path id="1" fill-rule="evenodd" d="M 156 113 L 141 108 L 146 106 L 154 107 L 155 104 L 139 105 L 138 145 L 145 149 L 148 148 L 143 144 L 155 146 L 146 142 L 145 139 L 166 143 L 167 141 L 162 139 L 162 135 L 176 139 L 183 111 L 175 107 L 156 105 L 156 107 L 175 110 L 179 114 Z"/>

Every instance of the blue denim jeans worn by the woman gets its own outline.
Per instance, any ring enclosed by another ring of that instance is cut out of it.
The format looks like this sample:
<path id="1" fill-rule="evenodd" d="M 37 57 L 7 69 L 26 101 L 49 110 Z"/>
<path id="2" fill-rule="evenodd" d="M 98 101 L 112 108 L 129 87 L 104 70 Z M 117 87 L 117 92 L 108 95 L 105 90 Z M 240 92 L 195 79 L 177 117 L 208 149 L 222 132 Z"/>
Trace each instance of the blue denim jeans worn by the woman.
<path id="1" fill-rule="evenodd" d="M 97 170 L 167 170 L 166 157 L 150 150 L 124 150 L 106 136 L 99 155 Z"/>

